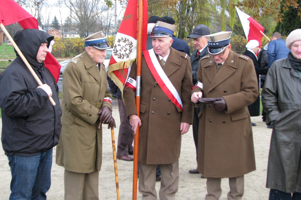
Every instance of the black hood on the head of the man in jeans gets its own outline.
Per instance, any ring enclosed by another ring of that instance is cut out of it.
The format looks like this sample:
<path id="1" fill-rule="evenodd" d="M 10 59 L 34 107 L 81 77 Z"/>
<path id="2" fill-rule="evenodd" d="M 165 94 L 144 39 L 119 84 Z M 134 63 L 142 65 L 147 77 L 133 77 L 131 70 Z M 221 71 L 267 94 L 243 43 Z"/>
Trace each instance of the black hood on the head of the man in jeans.
<path id="1" fill-rule="evenodd" d="M 27 61 L 35 68 L 39 69 L 42 63 L 39 63 L 36 59 L 38 50 L 43 41 L 47 40 L 49 47 L 50 41 L 54 39 L 54 36 L 38 29 L 23 29 L 18 31 L 14 36 L 14 41 L 23 53 Z M 20 55 L 17 53 L 17 58 Z"/>

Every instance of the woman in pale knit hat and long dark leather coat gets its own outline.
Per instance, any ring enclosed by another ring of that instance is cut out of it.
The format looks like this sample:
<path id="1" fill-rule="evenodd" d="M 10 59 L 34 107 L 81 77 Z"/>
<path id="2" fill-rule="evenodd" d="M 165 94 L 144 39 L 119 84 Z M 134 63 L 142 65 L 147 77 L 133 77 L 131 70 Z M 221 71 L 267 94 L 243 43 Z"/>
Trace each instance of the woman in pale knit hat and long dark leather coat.
<path id="1" fill-rule="evenodd" d="M 269 200 L 301 199 L 301 29 L 287 36 L 286 46 L 291 52 L 272 64 L 262 91 L 266 122 L 273 126 Z"/>

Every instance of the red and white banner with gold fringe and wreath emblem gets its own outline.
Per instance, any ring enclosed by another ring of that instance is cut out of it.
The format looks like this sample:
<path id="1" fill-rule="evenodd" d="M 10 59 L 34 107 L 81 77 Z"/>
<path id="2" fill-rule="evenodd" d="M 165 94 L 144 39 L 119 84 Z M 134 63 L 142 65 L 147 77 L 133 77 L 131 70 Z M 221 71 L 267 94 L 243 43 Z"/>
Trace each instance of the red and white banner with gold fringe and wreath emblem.
<path id="1" fill-rule="evenodd" d="M 137 0 L 129 0 L 116 34 L 108 68 L 109 77 L 121 91 L 126 83 L 129 67 L 137 56 L 137 8 Z M 146 50 L 147 20 L 147 0 L 143 0 L 142 51 Z"/>

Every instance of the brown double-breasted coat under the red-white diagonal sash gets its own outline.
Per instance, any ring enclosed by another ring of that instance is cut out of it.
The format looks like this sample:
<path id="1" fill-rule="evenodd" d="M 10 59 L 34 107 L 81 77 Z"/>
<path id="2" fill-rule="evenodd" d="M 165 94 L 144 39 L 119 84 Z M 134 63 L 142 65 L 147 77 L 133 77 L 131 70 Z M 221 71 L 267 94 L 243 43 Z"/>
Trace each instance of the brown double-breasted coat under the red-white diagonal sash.
<path id="1" fill-rule="evenodd" d="M 136 69 L 134 63 L 129 74 L 134 80 Z M 182 97 L 183 111 L 181 112 L 160 88 L 142 55 L 138 159 L 143 164 L 176 162 L 181 150 L 180 124 L 181 122 L 192 124 L 193 105 L 190 99 L 192 75 L 189 56 L 170 47 L 163 71 Z M 135 91 L 125 87 L 123 92 L 127 116 L 137 114 Z"/>

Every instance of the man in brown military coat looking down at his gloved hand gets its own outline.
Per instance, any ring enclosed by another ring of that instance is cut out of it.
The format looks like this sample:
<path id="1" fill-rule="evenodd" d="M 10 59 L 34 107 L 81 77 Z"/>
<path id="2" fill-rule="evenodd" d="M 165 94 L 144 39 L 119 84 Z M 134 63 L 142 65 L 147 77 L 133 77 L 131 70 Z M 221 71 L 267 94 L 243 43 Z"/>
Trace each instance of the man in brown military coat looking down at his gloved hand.
<path id="1" fill-rule="evenodd" d="M 241 199 L 244 174 L 256 169 L 250 114 L 258 84 L 253 61 L 231 51 L 231 32 L 206 35 L 208 56 L 197 70 L 191 101 L 199 113 L 198 171 L 207 177 L 206 200 L 218 200 L 228 177 L 228 199 Z"/>

